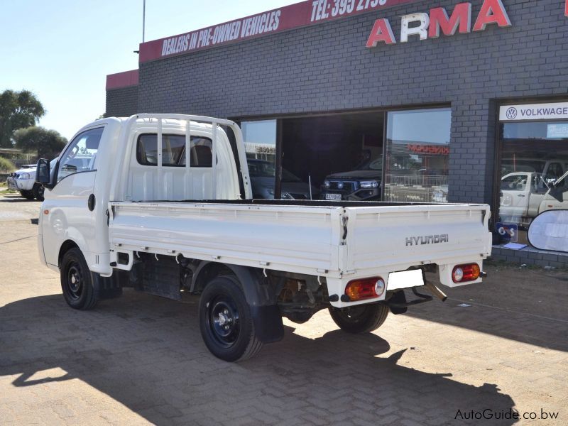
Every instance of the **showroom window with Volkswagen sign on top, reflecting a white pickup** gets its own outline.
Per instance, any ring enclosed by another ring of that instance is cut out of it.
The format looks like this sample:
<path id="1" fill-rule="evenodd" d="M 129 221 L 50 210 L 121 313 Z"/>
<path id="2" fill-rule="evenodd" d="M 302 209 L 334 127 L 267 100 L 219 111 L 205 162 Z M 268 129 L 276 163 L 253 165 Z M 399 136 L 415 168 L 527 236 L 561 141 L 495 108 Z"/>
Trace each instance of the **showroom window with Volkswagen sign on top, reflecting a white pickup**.
<path id="1" fill-rule="evenodd" d="M 538 214 L 568 209 L 567 183 L 562 179 L 568 171 L 568 120 L 531 116 L 530 121 L 519 121 L 528 112 L 545 111 L 547 105 L 542 107 L 501 107 L 501 182 L 495 231 L 501 244 L 520 244 L 517 248 L 528 244 L 528 226 Z M 551 107 L 551 111 L 559 110 Z"/>

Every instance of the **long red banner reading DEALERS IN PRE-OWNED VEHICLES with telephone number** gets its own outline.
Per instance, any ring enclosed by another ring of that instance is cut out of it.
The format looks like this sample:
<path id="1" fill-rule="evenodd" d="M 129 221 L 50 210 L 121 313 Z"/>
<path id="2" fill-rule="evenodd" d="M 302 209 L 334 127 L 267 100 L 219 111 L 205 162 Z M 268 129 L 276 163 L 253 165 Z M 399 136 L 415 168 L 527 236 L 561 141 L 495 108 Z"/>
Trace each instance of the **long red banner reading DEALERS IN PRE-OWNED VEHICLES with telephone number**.
<path id="1" fill-rule="evenodd" d="M 140 45 L 140 62 L 195 52 L 239 40 L 386 9 L 418 0 L 308 0 L 280 9 L 258 13 L 217 26 L 160 38 Z"/>

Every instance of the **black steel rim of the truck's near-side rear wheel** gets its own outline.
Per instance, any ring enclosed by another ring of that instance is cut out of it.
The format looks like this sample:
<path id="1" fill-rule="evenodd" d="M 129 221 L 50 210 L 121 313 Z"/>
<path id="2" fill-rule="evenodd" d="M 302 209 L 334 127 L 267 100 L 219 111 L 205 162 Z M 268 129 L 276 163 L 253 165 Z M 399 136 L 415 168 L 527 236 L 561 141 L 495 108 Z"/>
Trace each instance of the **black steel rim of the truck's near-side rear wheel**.
<path id="1" fill-rule="evenodd" d="M 218 296 L 207 304 L 207 327 L 217 344 L 233 346 L 241 332 L 239 310 L 229 297 Z"/>

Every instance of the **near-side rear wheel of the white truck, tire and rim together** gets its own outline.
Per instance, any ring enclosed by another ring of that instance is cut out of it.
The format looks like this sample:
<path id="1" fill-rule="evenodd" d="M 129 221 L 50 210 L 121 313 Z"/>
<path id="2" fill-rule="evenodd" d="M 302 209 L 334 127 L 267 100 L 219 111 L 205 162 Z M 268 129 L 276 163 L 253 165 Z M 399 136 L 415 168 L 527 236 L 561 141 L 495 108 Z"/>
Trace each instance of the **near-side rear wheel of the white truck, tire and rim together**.
<path id="1" fill-rule="evenodd" d="M 236 277 L 213 278 L 203 290 L 199 312 L 203 341 L 217 358 L 243 361 L 261 350 L 251 308 Z"/>

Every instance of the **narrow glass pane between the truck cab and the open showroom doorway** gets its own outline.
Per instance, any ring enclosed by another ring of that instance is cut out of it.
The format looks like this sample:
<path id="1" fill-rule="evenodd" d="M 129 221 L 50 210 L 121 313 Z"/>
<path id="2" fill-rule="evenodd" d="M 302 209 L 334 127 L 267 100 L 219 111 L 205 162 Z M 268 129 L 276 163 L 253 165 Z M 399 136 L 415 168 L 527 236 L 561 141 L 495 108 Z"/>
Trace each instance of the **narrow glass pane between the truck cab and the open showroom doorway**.
<path id="1" fill-rule="evenodd" d="M 274 198 L 276 120 L 243 121 L 246 160 L 254 198 Z"/>

